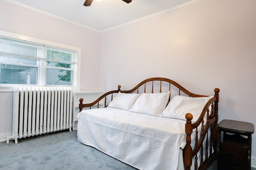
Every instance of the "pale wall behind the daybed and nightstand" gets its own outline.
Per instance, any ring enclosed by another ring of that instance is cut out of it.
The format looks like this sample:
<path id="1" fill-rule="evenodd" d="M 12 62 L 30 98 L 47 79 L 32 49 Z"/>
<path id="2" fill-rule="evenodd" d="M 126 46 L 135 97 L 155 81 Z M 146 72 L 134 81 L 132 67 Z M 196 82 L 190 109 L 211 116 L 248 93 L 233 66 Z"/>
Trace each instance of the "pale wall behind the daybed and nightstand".
<path id="1" fill-rule="evenodd" d="M 256 125 L 255 6 L 202 0 L 102 33 L 100 88 L 128 90 L 155 76 L 197 94 L 213 95 L 218 87 L 220 120 Z M 253 134 L 254 158 L 255 146 Z"/>

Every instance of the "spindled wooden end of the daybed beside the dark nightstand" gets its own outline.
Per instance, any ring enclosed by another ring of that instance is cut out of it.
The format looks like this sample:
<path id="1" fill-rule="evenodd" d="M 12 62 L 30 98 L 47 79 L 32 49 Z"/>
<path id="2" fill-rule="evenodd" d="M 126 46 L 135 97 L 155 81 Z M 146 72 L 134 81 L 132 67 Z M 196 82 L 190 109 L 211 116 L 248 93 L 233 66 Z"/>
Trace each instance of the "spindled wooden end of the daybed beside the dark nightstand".
<path id="1" fill-rule="evenodd" d="M 217 142 L 218 142 L 218 101 L 220 89 L 214 89 L 214 98 L 211 98 L 205 105 L 202 114 L 198 120 L 192 123 L 193 115 L 190 113 L 186 114 L 186 147 L 184 148 L 184 164 L 186 170 L 190 170 L 192 161 L 194 161 L 195 170 L 205 170 L 212 161 L 217 158 Z M 211 111 L 209 111 L 211 106 Z M 206 124 L 204 123 L 204 115 L 206 114 Z M 205 124 L 205 125 L 204 125 Z M 200 126 L 201 125 L 201 126 Z M 201 133 L 198 134 L 198 129 L 201 127 Z M 191 134 L 196 129 L 196 141 L 195 148 L 192 149 Z M 210 135 L 208 135 L 210 133 Z M 200 136 L 200 139 L 199 139 Z M 210 136 L 210 139 L 209 139 Z M 199 139 L 199 140 L 198 140 Z M 203 143 L 205 142 L 205 147 Z M 205 153 L 205 154 L 204 154 Z M 198 155 L 200 155 L 200 164 L 198 165 Z M 195 157 L 193 160 L 192 158 Z M 198 168 L 199 166 L 199 168 Z"/>

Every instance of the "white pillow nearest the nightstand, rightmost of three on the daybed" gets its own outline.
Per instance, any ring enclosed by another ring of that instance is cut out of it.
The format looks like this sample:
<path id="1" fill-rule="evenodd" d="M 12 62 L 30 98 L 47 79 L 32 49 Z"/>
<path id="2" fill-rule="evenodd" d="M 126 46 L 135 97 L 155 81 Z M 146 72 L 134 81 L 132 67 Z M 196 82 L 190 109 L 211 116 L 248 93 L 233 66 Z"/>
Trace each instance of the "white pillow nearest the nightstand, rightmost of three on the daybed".
<path id="1" fill-rule="evenodd" d="M 168 106 L 166 106 L 163 117 L 186 120 L 185 115 L 191 113 L 193 115 L 192 121 L 194 122 L 199 118 L 205 104 L 210 98 L 213 98 L 213 96 L 200 98 L 174 96 Z"/>

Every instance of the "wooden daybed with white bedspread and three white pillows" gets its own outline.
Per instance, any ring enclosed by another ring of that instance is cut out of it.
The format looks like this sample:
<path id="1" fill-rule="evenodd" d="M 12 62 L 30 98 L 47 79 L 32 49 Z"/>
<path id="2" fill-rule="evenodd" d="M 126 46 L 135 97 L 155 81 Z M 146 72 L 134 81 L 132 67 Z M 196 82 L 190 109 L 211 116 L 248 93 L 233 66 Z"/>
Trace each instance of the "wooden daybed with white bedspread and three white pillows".
<path id="1" fill-rule="evenodd" d="M 206 169 L 217 156 L 218 88 L 189 92 L 168 78 L 80 99 L 78 141 L 140 170 Z"/>

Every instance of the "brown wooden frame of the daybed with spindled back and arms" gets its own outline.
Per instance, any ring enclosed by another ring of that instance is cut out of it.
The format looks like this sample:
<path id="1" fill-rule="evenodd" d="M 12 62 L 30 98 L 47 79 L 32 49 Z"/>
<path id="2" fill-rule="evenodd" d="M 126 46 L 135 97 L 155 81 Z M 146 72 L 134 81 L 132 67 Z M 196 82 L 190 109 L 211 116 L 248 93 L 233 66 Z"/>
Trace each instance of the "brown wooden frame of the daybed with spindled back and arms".
<path id="1" fill-rule="evenodd" d="M 91 108 L 92 106 L 97 106 L 97 108 L 99 108 L 100 103 L 103 103 L 104 107 L 107 107 L 118 92 L 162 93 L 168 91 L 170 91 L 169 101 L 172 96 L 176 95 L 194 98 L 207 97 L 205 95 L 193 94 L 180 86 L 180 84 L 168 78 L 148 78 L 140 82 L 131 90 L 121 90 L 121 86 L 118 85 L 118 90 L 107 92 L 90 104 L 83 104 L 83 99 L 80 99 L 79 109 L 82 111 L 84 107 Z M 184 148 L 184 164 L 186 166 L 186 170 L 190 169 L 193 161 L 195 170 L 206 169 L 217 157 L 218 102 L 220 90 L 216 88 L 214 92 L 214 97 L 207 102 L 198 120 L 192 122 L 193 115 L 191 113 L 186 114 L 186 146 Z M 211 108 L 210 110 L 208 109 L 209 107 Z M 206 115 L 206 122 L 204 122 L 204 115 Z M 191 141 L 191 134 L 193 131 L 196 133 L 195 141 Z M 200 131 L 200 134 L 198 131 Z M 191 143 L 195 143 L 195 146 L 192 146 Z M 203 143 L 205 144 L 203 145 Z"/>

